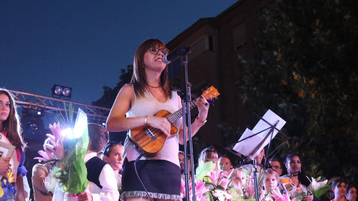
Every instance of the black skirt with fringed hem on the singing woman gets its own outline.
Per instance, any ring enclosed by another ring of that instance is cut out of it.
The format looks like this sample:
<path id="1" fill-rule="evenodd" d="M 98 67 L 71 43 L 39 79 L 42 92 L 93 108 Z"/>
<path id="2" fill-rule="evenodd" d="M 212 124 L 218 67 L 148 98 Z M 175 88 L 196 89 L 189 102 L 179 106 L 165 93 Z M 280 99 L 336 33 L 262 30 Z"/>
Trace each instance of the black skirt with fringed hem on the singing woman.
<path id="1" fill-rule="evenodd" d="M 180 197 L 180 167 L 165 160 L 139 160 L 136 164 L 138 175 L 150 197 L 166 200 L 182 200 Z M 141 185 L 134 169 L 134 161 L 125 159 L 122 166 L 122 195 L 126 197 L 148 194 Z"/>

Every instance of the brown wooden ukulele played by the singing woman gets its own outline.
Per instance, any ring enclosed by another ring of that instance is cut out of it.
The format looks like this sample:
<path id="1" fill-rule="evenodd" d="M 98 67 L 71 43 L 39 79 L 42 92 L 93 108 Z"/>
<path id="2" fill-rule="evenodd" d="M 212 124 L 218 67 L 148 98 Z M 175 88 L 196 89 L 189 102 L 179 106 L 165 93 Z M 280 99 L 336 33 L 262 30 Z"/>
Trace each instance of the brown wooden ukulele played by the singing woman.
<path id="1" fill-rule="evenodd" d="M 196 105 L 195 102 L 199 98 L 213 99 L 220 95 L 218 90 L 213 86 L 206 89 L 202 95 L 197 99 L 192 100 L 189 104 L 190 109 L 193 109 Z M 174 123 L 183 116 L 183 108 L 175 111 L 173 114 L 166 110 L 161 110 L 155 114 L 155 117 L 164 117 L 171 124 L 170 134 L 178 132 L 178 128 L 174 126 Z M 150 126 L 138 127 L 131 129 L 129 134 L 129 140 L 135 144 L 135 147 L 143 152 L 148 157 L 155 156 L 161 148 L 163 148 L 166 135 L 158 128 Z"/>

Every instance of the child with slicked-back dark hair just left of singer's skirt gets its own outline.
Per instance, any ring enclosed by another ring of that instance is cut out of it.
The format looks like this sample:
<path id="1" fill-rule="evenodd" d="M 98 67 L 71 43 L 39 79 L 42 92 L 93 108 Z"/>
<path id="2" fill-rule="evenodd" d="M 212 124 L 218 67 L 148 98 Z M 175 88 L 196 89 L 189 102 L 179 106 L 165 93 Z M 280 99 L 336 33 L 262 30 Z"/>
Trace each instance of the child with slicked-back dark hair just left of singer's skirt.
<path id="1" fill-rule="evenodd" d="M 122 162 L 123 162 L 123 151 L 124 147 L 121 143 L 118 142 L 109 142 L 106 147 L 103 149 L 103 161 L 110 164 L 113 168 L 116 180 L 118 191 L 121 194 L 122 191 Z"/>

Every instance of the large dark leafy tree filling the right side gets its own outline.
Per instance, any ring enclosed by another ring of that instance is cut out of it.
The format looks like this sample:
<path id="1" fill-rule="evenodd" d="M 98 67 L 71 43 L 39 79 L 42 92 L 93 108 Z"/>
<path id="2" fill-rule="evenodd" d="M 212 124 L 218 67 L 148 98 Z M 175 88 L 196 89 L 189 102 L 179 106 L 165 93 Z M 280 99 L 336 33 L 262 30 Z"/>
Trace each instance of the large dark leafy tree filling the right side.
<path id="1" fill-rule="evenodd" d="M 262 38 L 240 59 L 243 102 L 287 121 L 281 159 L 298 151 L 308 175 L 356 182 L 358 1 L 282 0 L 258 10 Z"/>

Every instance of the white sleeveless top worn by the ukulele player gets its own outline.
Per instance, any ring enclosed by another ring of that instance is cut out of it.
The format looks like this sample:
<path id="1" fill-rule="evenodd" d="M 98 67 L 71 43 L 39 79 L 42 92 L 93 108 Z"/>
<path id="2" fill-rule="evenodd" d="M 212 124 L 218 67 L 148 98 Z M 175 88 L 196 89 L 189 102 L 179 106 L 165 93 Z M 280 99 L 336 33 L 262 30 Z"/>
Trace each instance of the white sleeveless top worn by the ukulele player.
<path id="1" fill-rule="evenodd" d="M 160 110 L 167 110 L 170 113 L 174 113 L 179 109 L 179 100 L 176 91 L 171 91 L 171 99 L 168 99 L 165 103 L 161 103 L 156 100 L 153 95 L 148 92 L 147 90 L 144 93 L 144 97 L 136 97 L 135 100 L 131 105 L 130 110 L 126 113 L 126 117 L 144 117 L 154 116 Z M 144 118 L 143 118 L 144 121 Z M 183 119 L 180 118 L 174 126 L 178 128 L 182 124 Z M 130 132 L 130 131 L 128 131 Z M 158 152 L 158 154 L 154 157 L 146 157 L 142 156 L 140 160 L 166 160 L 170 161 L 178 166 L 179 165 L 179 158 L 178 158 L 178 151 L 179 151 L 179 135 L 178 133 L 172 134 L 170 137 L 166 138 L 163 148 Z M 124 153 L 123 158 L 127 158 L 128 161 L 134 161 L 137 157 L 139 157 L 140 152 L 134 148 L 134 144 L 129 141 L 128 137 L 124 142 Z"/>

